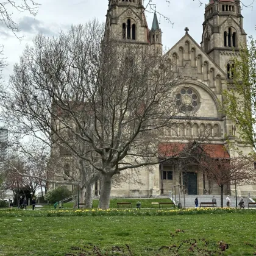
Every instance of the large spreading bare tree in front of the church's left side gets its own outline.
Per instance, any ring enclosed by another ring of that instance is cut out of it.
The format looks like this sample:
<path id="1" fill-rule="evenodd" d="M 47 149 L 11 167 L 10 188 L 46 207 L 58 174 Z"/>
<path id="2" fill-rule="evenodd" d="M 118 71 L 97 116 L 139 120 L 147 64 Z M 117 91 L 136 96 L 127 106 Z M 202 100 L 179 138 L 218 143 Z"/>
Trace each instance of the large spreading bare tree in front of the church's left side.
<path id="1" fill-rule="evenodd" d="M 62 146 L 77 158 L 88 194 L 100 177 L 99 207 L 108 208 L 112 177 L 158 163 L 165 140 L 159 135 L 188 112 L 185 102 L 173 104 L 181 80 L 171 62 L 103 32 L 93 21 L 57 38 L 38 35 L 15 65 L 2 107 L 23 135 L 48 143 L 52 155 Z"/>

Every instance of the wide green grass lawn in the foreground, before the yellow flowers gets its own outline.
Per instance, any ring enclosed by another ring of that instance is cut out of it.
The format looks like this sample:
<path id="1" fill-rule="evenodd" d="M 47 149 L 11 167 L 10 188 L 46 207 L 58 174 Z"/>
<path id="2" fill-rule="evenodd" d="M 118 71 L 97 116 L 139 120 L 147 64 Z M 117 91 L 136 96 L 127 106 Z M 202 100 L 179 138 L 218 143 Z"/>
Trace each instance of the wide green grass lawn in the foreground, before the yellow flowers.
<path id="1" fill-rule="evenodd" d="M 0 255 L 255 255 L 255 223 L 249 212 L 0 218 Z"/>

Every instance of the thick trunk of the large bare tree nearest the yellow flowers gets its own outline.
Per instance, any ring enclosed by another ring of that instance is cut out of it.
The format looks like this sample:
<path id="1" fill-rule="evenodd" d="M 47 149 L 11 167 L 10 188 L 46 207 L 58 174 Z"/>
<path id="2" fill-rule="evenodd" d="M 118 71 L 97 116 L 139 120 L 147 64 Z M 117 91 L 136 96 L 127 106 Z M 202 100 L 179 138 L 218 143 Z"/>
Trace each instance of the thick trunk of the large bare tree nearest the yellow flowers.
<path id="1" fill-rule="evenodd" d="M 101 176 L 101 190 L 99 197 L 99 208 L 106 210 L 109 208 L 110 191 L 111 191 L 112 174 L 102 174 Z"/>

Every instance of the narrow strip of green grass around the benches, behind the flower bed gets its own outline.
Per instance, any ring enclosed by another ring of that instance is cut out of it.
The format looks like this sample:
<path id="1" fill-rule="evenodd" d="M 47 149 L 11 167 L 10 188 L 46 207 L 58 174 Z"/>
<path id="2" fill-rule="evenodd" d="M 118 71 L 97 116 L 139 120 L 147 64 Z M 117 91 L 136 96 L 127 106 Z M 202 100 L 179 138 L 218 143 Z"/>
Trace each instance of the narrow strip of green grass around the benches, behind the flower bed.
<path id="1" fill-rule="evenodd" d="M 157 198 L 157 199 L 149 199 L 149 198 L 141 198 L 141 199 L 110 199 L 110 208 L 117 208 L 116 203 L 117 202 L 131 202 L 132 203 L 132 207 L 136 208 L 136 204 L 137 202 L 140 201 L 141 202 L 141 208 L 151 208 L 151 203 L 152 202 L 172 202 L 171 199 L 169 198 Z M 98 199 L 94 199 L 93 200 L 93 208 L 98 208 L 98 204 L 99 204 L 99 200 Z M 128 205 L 121 205 L 119 208 L 129 208 L 130 206 Z M 155 205 L 154 207 L 158 207 L 157 205 Z M 161 206 L 161 208 L 166 208 L 166 207 L 171 207 L 171 205 L 164 205 Z M 32 206 L 30 205 L 27 208 L 32 208 Z M 54 208 L 53 205 L 43 205 L 43 208 Z M 69 203 L 65 203 L 64 204 L 64 208 L 73 208 L 73 202 L 69 202 Z"/>

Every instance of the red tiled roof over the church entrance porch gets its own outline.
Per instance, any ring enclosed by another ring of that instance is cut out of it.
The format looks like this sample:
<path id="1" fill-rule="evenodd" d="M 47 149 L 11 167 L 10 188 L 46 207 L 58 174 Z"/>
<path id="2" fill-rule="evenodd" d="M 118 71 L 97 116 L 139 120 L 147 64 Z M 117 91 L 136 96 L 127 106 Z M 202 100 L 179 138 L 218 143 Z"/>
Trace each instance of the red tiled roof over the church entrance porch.
<path id="1" fill-rule="evenodd" d="M 158 145 L 158 153 L 160 157 L 178 157 L 188 146 L 188 143 L 162 143 Z M 199 147 L 212 158 L 230 158 L 224 144 L 199 144 Z"/>

